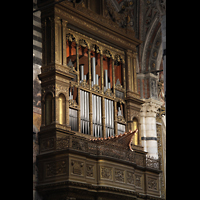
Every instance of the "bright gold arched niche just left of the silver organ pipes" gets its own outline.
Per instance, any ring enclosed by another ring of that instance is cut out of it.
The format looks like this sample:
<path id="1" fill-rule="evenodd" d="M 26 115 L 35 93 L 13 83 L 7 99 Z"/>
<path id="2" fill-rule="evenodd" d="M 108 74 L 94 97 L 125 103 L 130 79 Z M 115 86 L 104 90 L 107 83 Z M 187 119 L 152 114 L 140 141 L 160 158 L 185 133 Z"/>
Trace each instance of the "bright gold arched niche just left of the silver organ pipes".
<path id="1" fill-rule="evenodd" d="M 66 98 L 63 93 L 59 94 L 59 124 L 66 124 Z"/>

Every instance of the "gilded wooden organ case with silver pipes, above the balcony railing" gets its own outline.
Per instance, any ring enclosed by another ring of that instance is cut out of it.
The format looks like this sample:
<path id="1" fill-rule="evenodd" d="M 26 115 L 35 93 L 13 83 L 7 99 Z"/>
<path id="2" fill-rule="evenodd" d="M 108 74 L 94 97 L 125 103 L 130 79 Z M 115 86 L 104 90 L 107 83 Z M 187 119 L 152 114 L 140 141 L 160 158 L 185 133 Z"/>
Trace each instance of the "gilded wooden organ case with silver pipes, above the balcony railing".
<path id="1" fill-rule="evenodd" d="M 101 10 L 69 1 L 42 10 L 41 132 L 56 128 L 105 138 L 133 129 L 133 119 L 139 122 L 141 41 L 105 20 Z"/>

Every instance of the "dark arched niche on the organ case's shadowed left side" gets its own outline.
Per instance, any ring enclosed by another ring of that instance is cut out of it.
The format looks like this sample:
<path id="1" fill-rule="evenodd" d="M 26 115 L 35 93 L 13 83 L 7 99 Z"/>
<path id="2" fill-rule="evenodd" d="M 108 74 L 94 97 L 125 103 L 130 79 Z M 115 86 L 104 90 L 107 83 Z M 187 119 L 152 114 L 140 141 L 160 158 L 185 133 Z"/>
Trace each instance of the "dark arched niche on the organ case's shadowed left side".
<path id="1" fill-rule="evenodd" d="M 52 99 L 53 95 L 51 93 L 45 95 L 45 125 L 52 122 Z"/>

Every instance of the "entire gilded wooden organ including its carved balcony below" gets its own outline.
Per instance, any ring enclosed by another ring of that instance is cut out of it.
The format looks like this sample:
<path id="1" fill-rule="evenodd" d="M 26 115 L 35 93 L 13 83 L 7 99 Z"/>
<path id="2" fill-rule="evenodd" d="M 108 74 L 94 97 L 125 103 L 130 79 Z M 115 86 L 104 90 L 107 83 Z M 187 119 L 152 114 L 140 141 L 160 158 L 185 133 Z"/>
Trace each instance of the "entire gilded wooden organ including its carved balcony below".
<path id="1" fill-rule="evenodd" d="M 44 199 L 162 199 L 160 161 L 146 157 L 142 140 L 147 109 L 136 76 L 142 41 L 132 29 L 107 24 L 103 0 L 55 2 L 38 4 L 37 191 Z"/>

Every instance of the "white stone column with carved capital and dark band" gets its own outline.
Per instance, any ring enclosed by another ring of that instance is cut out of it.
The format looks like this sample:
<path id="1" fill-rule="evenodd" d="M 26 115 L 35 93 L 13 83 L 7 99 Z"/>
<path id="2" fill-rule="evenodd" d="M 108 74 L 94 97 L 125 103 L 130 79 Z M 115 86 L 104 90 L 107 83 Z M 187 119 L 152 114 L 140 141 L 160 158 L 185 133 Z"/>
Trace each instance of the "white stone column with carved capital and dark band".
<path id="1" fill-rule="evenodd" d="M 158 159 L 158 145 L 156 132 L 156 113 L 162 103 L 147 99 L 140 110 L 141 142 L 147 155 Z"/>

